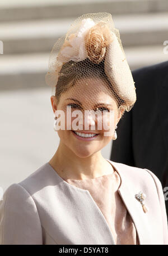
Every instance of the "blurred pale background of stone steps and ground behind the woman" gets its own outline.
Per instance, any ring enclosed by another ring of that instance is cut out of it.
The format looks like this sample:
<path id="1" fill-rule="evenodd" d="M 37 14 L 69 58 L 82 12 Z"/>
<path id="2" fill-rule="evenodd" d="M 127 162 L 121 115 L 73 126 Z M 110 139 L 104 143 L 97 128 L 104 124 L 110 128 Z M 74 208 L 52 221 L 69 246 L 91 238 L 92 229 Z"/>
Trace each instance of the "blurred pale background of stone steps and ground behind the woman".
<path id="1" fill-rule="evenodd" d="M 168 59 L 167 0 L 0 2 L 0 193 L 57 150 L 52 91 L 45 84 L 49 54 L 78 16 L 95 12 L 112 15 L 131 70 Z M 102 150 L 108 159 L 111 143 Z"/>

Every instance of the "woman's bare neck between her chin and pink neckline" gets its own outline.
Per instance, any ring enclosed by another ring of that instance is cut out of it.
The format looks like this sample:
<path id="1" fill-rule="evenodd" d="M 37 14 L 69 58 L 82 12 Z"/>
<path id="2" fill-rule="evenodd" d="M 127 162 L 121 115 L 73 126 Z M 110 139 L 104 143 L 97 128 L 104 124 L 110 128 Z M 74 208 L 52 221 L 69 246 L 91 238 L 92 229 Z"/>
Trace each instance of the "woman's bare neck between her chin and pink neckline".
<path id="1" fill-rule="evenodd" d="M 101 151 L 86 158 L 80 158 L 61 142 L 49 163 L 64 179 L 96 178 L 114 171 L 101 155 Z"/>

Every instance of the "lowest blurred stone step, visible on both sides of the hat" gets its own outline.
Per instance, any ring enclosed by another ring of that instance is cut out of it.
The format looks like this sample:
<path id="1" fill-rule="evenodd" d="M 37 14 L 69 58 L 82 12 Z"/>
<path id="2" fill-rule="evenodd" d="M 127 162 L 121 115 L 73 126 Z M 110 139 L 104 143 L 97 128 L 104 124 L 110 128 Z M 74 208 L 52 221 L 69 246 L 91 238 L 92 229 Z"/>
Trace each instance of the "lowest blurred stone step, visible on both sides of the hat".
<path id="1" fill-rule="evenodd" d="M 124 48 L 130 69 L 141 68 L 168 61 L 165 46 Z M 27 55 L 1 55 L 0 89 L 46 87 L 45 74 L 48 71 L 49 53 Z"/>

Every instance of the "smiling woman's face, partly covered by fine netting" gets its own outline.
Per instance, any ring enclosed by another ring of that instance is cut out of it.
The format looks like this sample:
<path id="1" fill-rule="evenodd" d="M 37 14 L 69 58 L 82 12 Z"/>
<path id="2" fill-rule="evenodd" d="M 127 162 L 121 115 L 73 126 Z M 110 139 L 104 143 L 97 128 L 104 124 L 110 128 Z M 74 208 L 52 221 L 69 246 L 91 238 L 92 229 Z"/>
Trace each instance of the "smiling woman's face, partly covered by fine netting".
<path id="1" fill-rule="evenodd" d="M 60 143 L 81 158 L 95 154 L 111 141 L 122 115 L 105 82 L 99 78 L 78 80 L 60 96 L 58 104 L 54 96 L 51 96 L 51 102 L 54 113 L 64 113 L 57 119 L 64 122 L 65 128 L 58 130 Z M 88 114 L 89 110 L 92 110 L 91 114 Z M 99 117 L 94 115 L 96 111 Z M 68 119 L 67 113 L 70 113 Z"/>

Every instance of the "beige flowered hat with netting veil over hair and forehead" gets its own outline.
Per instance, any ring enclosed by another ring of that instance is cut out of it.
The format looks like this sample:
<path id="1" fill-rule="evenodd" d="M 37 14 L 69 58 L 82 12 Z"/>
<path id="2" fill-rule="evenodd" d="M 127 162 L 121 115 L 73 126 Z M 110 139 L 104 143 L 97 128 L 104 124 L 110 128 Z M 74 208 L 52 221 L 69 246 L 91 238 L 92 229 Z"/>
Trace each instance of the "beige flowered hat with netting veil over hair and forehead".
<path id="1" fill-rule="evenodd" d="M 53 46 L 45 80 L 58 101 L 67 91 L 78 101 L 84 94 L 83 109 L 92 109 L 93 100 L 101 98 L 99 91 L 111 95 L 124 111 L 132 109 L 136 102 L 136 88 L 119 30 L 107 12 L 74 20 L 67 34 Z"/>

